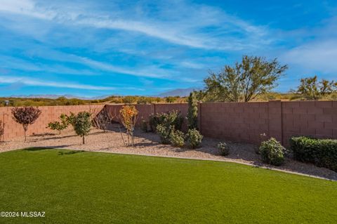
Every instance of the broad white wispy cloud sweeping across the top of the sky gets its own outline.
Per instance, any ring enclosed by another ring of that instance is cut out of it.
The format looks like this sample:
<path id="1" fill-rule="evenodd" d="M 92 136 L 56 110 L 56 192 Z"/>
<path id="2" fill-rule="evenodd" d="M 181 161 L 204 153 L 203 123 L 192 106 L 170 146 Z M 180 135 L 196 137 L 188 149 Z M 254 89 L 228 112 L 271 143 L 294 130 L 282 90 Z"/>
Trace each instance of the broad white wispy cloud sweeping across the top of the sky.
<path id="1" fill-rule="evenodd" d="M 154 37 L 173 44 L 192 48 L 218 49 L 238 51 L 244 47 L 260 47 L 269 44 L 267 29 L 252 25 L 240 18 L 228 15 L 225 11 L 209 6 L 194 4 L 190 6 L 184 1 L 178 1 L 171 7 L 159 11 L 162 18 L 149 18 L 142 14 L 141 18 L 132 18 L 136 8 L 112 9 L 110 13 L 103 11 L 74 10 L 65 6 L 53 5 L 46 7 L 44 2 L 39 4 L 32 0 L 2 0 L 0 11 L 16 13 L 33 18 L 52 20 L 66 25 L 84 25 L 88 27 L 119 29 L 126 32 L 138 32 L 148 37 Z M 167 9 L 169 8 L 169 9 Z M 177 11 L 180 11 L 178 13 Z M 114 16 L 114 14 L 118 16 Z M 182 14 L 177 19 L 177 15 Z M 202 29 L 216 27 L 206 34 Z M 240 37 L 232 37 L 239 33 Z"/>

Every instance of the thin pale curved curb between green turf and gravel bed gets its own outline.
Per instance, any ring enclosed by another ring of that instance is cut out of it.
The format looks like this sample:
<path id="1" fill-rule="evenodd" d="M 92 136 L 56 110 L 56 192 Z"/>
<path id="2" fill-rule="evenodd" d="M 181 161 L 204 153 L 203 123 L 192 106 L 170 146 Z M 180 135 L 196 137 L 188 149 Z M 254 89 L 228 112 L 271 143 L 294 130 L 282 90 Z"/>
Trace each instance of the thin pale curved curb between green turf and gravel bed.
<path id="1" fill-rule="evenodd" d="M 172 158 L 172 159 L 192 159 L 192 160 L 199 160 L 199 161 L 213 161 L 213 162 L 230 162 L 234 164 L 242 164 L 246 166 L 252 166 L 256 168 L 261 168 L 261 169 L 267 169 L 271 171 L 279 171 L 283 173 L 290 173 L 294 175 L 299 175 L 299 176 L 305 176 L 309 178 L 317 178 L 321 180 L 330 180 L 333 182 L 337 182 L 337 180 L 329 179 L 329 178 L 324 178 L 322 176 L 315 176 L 315 175 L 310 175 L 306 173 L 299 173 L 296 171 L 288 171 L 284 169 L 277 169 L 273 166 L 259 166 L 256 164 L 250 164 L 246 162 L 240 162 L 232 159 L 211 159 L 211 158 L 194 158 L 194 157 L 171 157 L 171 156 L 166 156 L 166 155 L 157 155 L 157 154 L 145 154 L 145 153 L 132 153 L 132 152 L 109 152 L 109 151 L 103 151 L 103 150 L 97 150 L 97 151 L 91 151 L 91 150 L 78 150 L 78 149 L 71 149 L 71 148 L 58 148 L 58 147 L 27 147 L 27 148 L 22 148 L 22 149 L 17 149 L 17 150 L 28 150 L 28 149 L 50 149 L 50 150 L 74 150 L 74 151 L 83 151 L 83 152 L 101 152 L 101 153 L 110 153 L 110 154 L 130 154 L 130 155 L 135 155 L 135 156 L 142 156 L 142 157 L 159 157 L 159 158 Z M 17 151 L 17 150 L 11 150 L 11 151 Z M 6 151 L 6 152 L 11 152 L 11 151 Z"/>

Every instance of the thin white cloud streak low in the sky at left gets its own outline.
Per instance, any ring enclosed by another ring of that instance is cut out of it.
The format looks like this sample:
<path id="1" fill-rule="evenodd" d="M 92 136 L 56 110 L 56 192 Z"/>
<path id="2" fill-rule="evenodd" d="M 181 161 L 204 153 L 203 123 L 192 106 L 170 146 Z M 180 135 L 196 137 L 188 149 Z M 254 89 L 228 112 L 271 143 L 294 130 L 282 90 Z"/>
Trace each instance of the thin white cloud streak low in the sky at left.
<path id="1" fill-rule="evenodd" d="M 27 86 L 50 86 L 58 88 L 78 88 L 78 89 L 87 89 L 87 90 L 99 90 L 99 91 L 109 91 L 114 90 L 113 87 L 107 86 L 92 86 L 85 84 L 72 84 L 69 81 L 57 82 L 57 81 L 46 81 L 41 79 L 33 79 L 31 77 L 15 77 L 10 76 L 0 76 L 0 84 L 25 84 Z"/>

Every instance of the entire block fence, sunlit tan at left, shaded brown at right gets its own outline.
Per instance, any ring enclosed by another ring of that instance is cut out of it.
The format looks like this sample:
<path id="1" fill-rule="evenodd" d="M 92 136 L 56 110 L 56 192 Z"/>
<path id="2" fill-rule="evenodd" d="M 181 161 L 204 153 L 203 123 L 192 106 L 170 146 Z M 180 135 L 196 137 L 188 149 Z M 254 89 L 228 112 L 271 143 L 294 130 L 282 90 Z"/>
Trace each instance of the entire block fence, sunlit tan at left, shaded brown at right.
<path id="1" fill-rule="evenodd" d="M 105 105 L 117 115 L 122 105 Z M 39 107 L 39 119 L 29 127 L 28 134 L 45 133 L 49 122 L 60 114 L 102 110 L 104 105 Z M 260 134 L 277 138 L 283 145 L 291 136 L 337 138 L 337 101 L 279 101 L 251 103 L 199 103 L 199 129 L 204 136 L 244 143 L 259 143 Z M 136 105 L 138 125 L 152 113 L 179 110 L 185 117 L 185 103 Z M 4 121 L 4 140 L 23 136 L 22 126 L 11 118 L 11 107 L 0 107 Z M 116 119 L 117 120 L 117 119 Z M 185 124 L 186 126 L 186 124 Z"/>

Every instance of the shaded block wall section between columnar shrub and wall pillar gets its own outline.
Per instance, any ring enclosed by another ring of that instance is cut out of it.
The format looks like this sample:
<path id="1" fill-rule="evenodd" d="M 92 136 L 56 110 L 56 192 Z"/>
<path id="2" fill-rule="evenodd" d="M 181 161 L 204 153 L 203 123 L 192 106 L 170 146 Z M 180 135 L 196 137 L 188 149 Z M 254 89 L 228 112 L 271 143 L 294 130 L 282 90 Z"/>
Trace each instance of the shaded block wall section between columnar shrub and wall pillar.
<path id="1" fill-rule="evenodd" d="M 268 133 L 268 103 L 201 103 L 201 133 L 257 143 Z"/>

